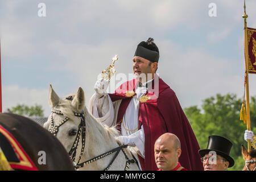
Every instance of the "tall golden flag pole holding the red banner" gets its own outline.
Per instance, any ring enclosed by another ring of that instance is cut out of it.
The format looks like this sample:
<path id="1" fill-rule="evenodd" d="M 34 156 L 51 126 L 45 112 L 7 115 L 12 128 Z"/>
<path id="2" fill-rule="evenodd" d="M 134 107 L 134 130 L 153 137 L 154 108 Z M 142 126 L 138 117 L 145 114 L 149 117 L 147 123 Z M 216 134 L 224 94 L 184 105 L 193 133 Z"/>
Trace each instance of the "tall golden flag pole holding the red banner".
<path id="1" fill-rule="evenodd" d="M 249 97 L 249 78 L 248 78 L 248 71 L 249 71 L 249 63 L 248 63 L 248 40 L 247 40 L 247 22 L 246 18 L 248 18 L 248 15 L 246 15 L 246 6 L 245 6 L 245 0 L 243 1 L 243 15 L 242 18 L 244 19 L 243 25 L 244 25 L 244 34 L 245 34 L 245 87 L 246 87 L 246 125 L 247 130 L 251 130 L 251 122 L 250 122 L 250 97 Z M 251 150 L 251 140 L 247 140 L 248 148 L 247 150 Z"/>

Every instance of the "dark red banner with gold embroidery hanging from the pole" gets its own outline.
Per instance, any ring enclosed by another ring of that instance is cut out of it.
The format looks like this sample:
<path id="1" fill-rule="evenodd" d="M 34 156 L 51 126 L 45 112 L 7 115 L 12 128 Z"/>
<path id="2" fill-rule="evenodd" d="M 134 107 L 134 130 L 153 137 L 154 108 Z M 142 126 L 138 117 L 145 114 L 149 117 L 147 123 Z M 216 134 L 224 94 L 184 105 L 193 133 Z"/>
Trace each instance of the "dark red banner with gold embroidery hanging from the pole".
<path id="1" fill-rule="evenodd" d="M 256 74 L 256 29 L 247 28 L 249 73 Z"/>

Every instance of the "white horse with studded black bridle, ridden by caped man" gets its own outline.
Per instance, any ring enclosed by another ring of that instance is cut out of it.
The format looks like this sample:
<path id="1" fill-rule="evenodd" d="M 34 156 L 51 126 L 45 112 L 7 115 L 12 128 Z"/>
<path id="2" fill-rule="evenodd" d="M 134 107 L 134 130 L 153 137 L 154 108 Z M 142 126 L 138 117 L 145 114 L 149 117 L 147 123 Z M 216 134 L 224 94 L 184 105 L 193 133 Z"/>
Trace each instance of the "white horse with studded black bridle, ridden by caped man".
<path id="1" fill-rule="evenodd" d="M 56 135 L 81 170 L 139 170 L 126 146 L 115 140 L 118 130 L 102 125 L 85 107 L 84 90 L 59 98 L 50 85 L 52 113 L 44 128 Z"/>

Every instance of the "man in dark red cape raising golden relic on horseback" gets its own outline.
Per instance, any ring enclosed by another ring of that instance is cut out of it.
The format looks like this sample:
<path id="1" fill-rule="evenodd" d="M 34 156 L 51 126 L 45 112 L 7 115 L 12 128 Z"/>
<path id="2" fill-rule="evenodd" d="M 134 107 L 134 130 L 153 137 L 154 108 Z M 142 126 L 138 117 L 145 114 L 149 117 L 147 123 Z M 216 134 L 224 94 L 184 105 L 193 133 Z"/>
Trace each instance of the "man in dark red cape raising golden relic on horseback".
<path id="1" fill-rule="evenodd" d="M 117 138 L 121 144 L 138 147 L 137 159 L 142 170 L 158 169 L 154 143 L 164 133 L 173 133 L 180 139 L 179 162 L 184 168 L 203 170 L 199 144 L 176 94 L 155 74 L 159 51 L 153 40 L 149 38 L 137 47 L 133 59 L 136 79 L 123 83 L 113 94 L 106 94 L 108 81 L 96 82 L 96 95 L 92 97 L 90 110 L 100 122 L 117 126 L 123 135 Z M 144 91 L 139 92 L 140 88 Z"/>

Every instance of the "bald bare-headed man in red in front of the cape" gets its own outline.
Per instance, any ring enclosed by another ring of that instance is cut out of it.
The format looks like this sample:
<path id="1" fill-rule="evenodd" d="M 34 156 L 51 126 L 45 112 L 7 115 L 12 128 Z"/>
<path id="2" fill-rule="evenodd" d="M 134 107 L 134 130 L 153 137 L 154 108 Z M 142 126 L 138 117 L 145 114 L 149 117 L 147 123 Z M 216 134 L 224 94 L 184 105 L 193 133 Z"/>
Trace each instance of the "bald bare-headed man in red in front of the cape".
<path id="1" fill-rule="evenodd" d="M 158 171 L 188 171 L 178 162 L 180 155 L 180 140 L 175 134 L 165 133 L 156 140 L 155 162 Z"/>

